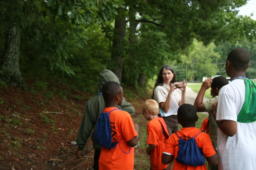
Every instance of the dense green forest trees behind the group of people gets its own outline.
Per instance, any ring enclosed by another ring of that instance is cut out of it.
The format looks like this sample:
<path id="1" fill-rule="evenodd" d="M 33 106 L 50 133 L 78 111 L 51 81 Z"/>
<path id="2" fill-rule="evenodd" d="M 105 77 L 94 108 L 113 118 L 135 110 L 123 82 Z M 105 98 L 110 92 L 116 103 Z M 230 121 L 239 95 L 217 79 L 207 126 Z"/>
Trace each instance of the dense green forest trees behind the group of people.
<path id="1" fill-rule="evenodd" d="M 173 66 L 178 81 L 202 81 L 212 75 L 227 77 L 228 53 L 244 47 L 251 54 L 246 76 L 255 79 L 256 21 L 238 15 L 237 9 L 246 3 L 247 0 L 1 1 L 0 121 L 6 146 L 15 147 L 23 141 L 8 132 L 15 131 L 16 124 L 33 134 L 29 123 L 20 124 L 28 121 L 24 120 L 26 117 L 30 120 L 38 115 L 49 124 L 42 128 L 49 126 L 51 135 L 56 135 L 58 121 L 47 116 L 46 105 L 56 105 L 58 113 L 66 105 L 67 113 L 75 110 L 81 116 L 85 102 L 96 94 L 98 75 L 103 69 L 117 75 L 127 90 L 125 97 L 132 102 L 150 96 L 152 79 L 164 64 Z M 74 103 L 77 107 L 72 107 Z M 11 116 L 23 119 L 10 119 Z M 78 127 L 80 119 L 74 122 Z M 69 132 L 73 138 L 74 131 Z M 42 140 L 44 135 L 39 135 Z M 40 142 L 35 139 L 34 143 L 40 148 Z"/>

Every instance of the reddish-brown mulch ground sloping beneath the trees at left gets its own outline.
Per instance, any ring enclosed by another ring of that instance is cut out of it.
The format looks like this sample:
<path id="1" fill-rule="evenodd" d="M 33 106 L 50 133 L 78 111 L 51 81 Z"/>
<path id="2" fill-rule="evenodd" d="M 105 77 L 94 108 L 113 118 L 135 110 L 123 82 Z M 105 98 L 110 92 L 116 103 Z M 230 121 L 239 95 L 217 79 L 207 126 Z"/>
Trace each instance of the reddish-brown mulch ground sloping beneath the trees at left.
<path id="1" fill-rule="evenodd" d="M 85 104 L 93 95 L 61 84 L 55 86 L 62 93 L 51 94 L 51 97 L 43 92 L 25 92 L 9 86 L 0 89 L 0 99 L 3 99 L 0 105 L 0 169 L 93 168 L 91 138 L 81 159 L 75 157 L 77 146 L 71 143 L 76 140 Z M 145 100 L 127 99 L 135 107 L 135 118 L 141 113 Z M 146 121 L 141 125 L 145 126 Z M 146 156 L 139 148 L 136 149 L 138 153 Z"/>

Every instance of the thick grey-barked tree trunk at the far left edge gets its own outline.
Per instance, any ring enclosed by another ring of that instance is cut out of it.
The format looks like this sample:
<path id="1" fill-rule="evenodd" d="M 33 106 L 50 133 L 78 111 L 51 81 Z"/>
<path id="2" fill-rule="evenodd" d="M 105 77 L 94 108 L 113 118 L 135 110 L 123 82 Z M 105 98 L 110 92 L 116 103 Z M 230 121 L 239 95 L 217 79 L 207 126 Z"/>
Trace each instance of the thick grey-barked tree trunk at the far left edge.
<path id="1" fill-rule="evenodd" d="M 21 90 L 27 90 L 19 66 L 20 40 L 20 29 L 16 23 L 12 23 L 6 34 L 4 53 L 1 61 L 1 68 L 4 72 L 2 77 L 7 79 L 11 86 Z"/>

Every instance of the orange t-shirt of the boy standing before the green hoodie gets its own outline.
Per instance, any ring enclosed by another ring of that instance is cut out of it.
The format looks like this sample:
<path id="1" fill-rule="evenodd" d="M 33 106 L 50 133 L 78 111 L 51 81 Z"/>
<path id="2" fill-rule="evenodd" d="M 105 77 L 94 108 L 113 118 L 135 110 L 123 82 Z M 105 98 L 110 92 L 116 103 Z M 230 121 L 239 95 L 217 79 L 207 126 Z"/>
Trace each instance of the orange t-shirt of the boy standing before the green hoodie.
<path id="1" fill-rule="evenodd" d="M 104 109 L 104 112 L 107 113 L 113 109 L 116 108 L 107 107 Z M 133 170 L 134 148 L 131 148 L 126 143 L 126 141 L 137 136 L 131 115 L 123 110 L 114 110 L 109 114 L 109 118 L 112 131 L 112 142 L 120 142 L 113 149 L 105 147 L 101 148 L 99 170 Z M 129 152 L 129 150 L 130 153 L 125 153 Z"/>

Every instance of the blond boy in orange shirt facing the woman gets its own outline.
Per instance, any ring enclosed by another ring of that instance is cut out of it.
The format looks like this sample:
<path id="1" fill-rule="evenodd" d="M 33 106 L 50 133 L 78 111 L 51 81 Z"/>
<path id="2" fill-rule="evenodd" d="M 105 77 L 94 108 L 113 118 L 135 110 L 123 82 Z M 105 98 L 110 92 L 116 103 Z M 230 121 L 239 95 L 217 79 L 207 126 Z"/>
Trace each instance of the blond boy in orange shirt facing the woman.
<path id="1" fill-rule="evenodd" d="M 168 165 L 162 164 L 161 155 L 169 137 L 168 130 L 163 118 L 158 117 L 159 105 L 155 100 L 146 100 L 142 105 L 143 115 L 147 124 L 147 144 L 146 149 L 150 155 L 150 170 L 165 170 Z"/>

